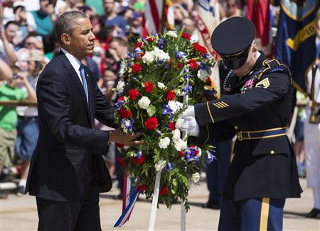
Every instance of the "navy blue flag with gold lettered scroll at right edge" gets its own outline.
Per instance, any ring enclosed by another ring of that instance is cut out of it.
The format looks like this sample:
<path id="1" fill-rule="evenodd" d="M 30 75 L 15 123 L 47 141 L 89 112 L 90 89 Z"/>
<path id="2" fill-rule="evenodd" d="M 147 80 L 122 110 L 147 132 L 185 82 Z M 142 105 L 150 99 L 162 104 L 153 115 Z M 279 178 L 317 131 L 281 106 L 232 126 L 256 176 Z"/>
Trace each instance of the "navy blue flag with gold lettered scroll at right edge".
<path id="1" fill-rule="evenodd" d="M 320 0 L 282 0 L 274 56 L 306 93 L 306 73 L 316 58 L 316 11 Z"/>

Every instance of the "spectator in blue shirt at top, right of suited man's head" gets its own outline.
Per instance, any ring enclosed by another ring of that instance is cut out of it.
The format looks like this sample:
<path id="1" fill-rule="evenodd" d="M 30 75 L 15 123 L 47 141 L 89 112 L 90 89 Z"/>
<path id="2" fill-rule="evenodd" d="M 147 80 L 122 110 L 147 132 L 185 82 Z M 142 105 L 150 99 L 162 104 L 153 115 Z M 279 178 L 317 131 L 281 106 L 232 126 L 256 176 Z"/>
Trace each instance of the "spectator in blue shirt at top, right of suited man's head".
<path id="1" fill-rule="evenodd" d="M 122 16 L 118 16 L 114 11 L 114 0 L 104 0 L 103 8 L 105 9 L 105 25 L 115 25 L 121 29 L 118 31 L 119 35 L 125 35 L 127 33 L 127 21 Z"/>

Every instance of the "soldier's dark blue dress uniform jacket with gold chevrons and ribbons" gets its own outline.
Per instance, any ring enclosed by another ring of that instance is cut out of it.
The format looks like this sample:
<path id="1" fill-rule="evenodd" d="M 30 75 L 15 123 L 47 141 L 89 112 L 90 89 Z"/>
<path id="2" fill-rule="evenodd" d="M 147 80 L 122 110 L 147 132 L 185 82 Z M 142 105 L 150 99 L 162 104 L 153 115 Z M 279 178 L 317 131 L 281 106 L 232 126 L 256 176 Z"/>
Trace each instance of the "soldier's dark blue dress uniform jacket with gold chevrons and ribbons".
<path id="1" fill-rule="evenodd" d="M 261 54 L 252 72 L 230 75 L 225 95 L 195 106 L 201 126 L 198 142 L 230 140 L 240 131 L 285 128 L 292 114 L 293 87 L 289 71 Z M 235 142 L 224 195 L 246 198 L 300 197 L 297 164 L 287 135 Z"/>

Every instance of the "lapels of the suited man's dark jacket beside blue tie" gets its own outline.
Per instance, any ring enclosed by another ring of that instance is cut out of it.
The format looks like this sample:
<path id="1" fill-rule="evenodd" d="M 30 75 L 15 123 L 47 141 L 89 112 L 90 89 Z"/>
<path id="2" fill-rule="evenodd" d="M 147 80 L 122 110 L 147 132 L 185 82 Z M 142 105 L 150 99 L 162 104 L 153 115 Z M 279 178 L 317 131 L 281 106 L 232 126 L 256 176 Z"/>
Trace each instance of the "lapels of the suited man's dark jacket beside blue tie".
<path id="1" fill-rule="evenodd" d="M 75 88 L 78 89 L 78 91 L 81 94 L 81 99 L 83 101 L 83 103 L 85 104 L 85 111 L 87 113 L 87 118 L 89 120 L 89 124 L 92 125 L 91 123 L 91 115 L 90 115 L 90 108 L 88 106 L 87 103 L 87 97 L 85 96 L 85 90 L 83 89 L 83 85 L 78 77 L 77 72 L 75 72 L 75 69 L 73 68 L 73 66 L 70 64 L 68 58 L 63 54 L 63 52 L 59 52 L 59 55 L 61 56 L 61 58 L 63 59 L 63 66 L 65 66 L 66 69 L 68 69 L 68 74 L 70 76 L 70 79 L 72 79 L 73 83 L 75 84 Z M 87 72 L 86 72 L 87 75 Z M 89 96 L 89 103 L 91 101 L 90 98 L 92 98 L 92 96 L 90 96 L 90 83 L 89 83 L 89 78 L 86 77 L 87 80 L 87 89 L 88 89 L 88 96 Z M 91 103 L 90 103 L 91 104 Z"/>

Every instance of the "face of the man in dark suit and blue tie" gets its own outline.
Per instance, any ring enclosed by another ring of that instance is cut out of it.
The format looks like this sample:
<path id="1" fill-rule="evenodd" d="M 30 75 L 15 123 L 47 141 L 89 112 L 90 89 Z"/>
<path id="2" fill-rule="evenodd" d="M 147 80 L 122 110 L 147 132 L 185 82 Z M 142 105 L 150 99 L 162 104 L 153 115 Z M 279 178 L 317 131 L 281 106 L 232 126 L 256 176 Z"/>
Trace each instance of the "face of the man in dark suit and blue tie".
<path id="1" fill-rule="evenodd" d="M 75 19 L 76 26 L 69 35 L 69 44 L 66 45 L 68 52 L 79 60 L 93 53 L 95 47 L 95 35 L 92 33 L 92 26 L 89 18 Z"/>

